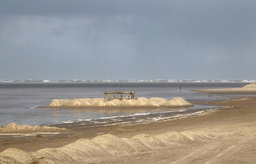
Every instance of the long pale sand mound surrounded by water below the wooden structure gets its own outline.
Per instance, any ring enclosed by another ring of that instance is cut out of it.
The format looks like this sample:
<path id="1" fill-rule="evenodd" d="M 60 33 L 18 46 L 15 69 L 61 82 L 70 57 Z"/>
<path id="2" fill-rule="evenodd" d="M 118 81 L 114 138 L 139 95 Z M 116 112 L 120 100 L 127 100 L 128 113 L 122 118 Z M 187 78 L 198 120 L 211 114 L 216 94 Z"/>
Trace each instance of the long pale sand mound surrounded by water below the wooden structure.
<path id="1" fill-rule="evenodd" d="M 77 98 L 74 100 L 55 99 L 52 100 L 48 107 L 187 107 L 192 106 L 183 98 L 137 98 L 136 100 L 110 100 L 105 101 L 104 98 Z"/>

